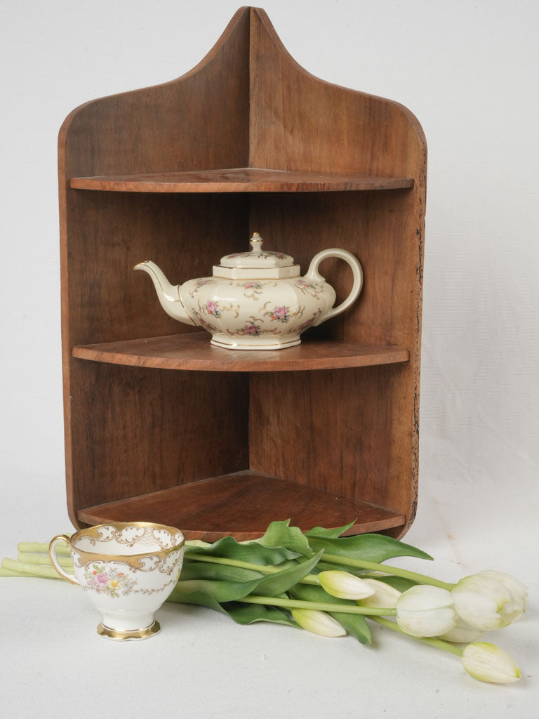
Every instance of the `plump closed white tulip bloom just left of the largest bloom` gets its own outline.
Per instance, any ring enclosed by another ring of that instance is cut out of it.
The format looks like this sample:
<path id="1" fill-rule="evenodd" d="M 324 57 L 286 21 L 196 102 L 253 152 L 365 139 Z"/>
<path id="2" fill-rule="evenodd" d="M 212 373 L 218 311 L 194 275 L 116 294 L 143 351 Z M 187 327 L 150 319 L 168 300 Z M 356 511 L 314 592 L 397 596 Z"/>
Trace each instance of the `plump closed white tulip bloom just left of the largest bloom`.
<path id="1" fill-rule="evenodd" d="M 416 585 L 397 600 L 397 624 L 411 636 L 438 636 L 456 622 L 451 592 L 430 585 Z"/>

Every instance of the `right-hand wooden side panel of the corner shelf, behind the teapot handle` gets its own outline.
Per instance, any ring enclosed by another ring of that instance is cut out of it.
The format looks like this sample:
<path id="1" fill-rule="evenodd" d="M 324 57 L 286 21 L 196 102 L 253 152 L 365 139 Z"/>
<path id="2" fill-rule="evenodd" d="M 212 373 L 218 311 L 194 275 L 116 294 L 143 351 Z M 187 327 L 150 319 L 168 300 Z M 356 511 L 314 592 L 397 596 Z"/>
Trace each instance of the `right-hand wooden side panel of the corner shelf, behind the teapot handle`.
<path id="1" fill-rule="evenodd" d="M 410 362 L 252 374 L 249 466 L 400 511 L 405 526 L 390 533 L 402 535 L 418 491 L 423 130 L 400 104 L 310 75 L 260 9 L 251 13 L 250 62 L 249 165 L 410 177 L 414 186 L 252 196 L 250 229 L 278 237 L 300 265 L 325 247 L 343 247 L 364 267 L 359 301 L 317 336 L 406 347 Z M 344 298 L 351 286 L 344 263 L 326 260 L 321 273 Z"/>

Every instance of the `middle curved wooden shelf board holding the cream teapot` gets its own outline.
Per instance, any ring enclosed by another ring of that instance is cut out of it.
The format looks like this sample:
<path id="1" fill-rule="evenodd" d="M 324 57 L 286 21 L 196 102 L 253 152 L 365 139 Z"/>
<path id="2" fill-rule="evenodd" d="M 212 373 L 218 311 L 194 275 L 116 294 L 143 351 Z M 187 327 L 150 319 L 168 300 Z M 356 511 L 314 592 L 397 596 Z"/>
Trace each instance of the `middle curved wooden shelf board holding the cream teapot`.
<path id="1" fill-rule="evenodd" d="M 210 344 L 210 336 L 206 332 L 188 332 L 126 339 L 122 342 L 75 345 L 73 357 L 162 370 L 281 372 L 389 365 L 407 362 L 410 353 L 401 347 L 331 339 L 305 339 L 288 349 L 223 349 Z"/>

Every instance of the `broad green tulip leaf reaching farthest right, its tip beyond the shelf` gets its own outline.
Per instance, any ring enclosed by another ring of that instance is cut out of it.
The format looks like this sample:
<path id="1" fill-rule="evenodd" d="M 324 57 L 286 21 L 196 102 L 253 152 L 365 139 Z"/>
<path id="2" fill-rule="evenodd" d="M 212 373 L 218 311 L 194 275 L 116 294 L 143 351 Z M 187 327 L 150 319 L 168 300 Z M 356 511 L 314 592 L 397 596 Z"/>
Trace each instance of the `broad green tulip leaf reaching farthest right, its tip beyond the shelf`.
<path id="1" fill-rule="evenodd" d="M 335 554 L 338 557 L 350 559 L 363 559 L 364 562 L 384 562 L 391 557 L 419 557 L 432 559 L 430 554 L 417 549 L 411 544 L 385 536 L 384 534 L 358 534 L 351 537 L 318 537 L 309 536 L 311 549 L 326 554 Z"/>

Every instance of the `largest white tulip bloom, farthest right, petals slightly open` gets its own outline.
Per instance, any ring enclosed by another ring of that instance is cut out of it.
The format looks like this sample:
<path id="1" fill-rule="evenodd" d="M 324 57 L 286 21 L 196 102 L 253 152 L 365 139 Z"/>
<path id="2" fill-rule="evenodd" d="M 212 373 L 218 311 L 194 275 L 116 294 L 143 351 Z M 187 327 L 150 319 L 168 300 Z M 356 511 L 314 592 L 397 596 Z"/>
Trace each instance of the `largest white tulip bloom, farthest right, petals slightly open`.
<path id="1" fill-rule="evenodd" d="M 453 587 L 457 613 L 478 629 L 499 629 L 522 616 L 528 592 L 520 582 L 503 572 L 478 572 Z"/>

